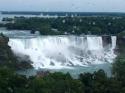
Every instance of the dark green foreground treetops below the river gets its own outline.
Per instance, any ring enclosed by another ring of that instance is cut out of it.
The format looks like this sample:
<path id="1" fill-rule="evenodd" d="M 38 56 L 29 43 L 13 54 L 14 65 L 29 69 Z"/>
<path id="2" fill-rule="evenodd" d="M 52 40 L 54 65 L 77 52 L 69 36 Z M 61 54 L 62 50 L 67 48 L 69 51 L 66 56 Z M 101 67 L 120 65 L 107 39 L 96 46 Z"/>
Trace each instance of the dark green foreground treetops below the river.
<path id="1" fill-rule="evenodd" d="M 26 77 L 9 68 L 0 68 L 0 93 L 125 93 L 125 60 L 113 64 L 113 76 L 103 70 L 84 73 L 78 79 L 70 74 L 50 73 Z"/>

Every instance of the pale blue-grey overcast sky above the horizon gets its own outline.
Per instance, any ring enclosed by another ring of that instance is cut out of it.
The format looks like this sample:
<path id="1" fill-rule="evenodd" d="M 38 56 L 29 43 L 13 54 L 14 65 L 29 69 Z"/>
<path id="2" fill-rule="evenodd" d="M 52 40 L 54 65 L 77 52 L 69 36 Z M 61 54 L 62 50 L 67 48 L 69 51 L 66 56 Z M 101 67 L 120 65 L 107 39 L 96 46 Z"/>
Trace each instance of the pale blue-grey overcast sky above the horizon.
<path id="1" fill-rule="evenodd" d="M 125 0 L 0 0 L 0 10 L 125 12 Z"/>

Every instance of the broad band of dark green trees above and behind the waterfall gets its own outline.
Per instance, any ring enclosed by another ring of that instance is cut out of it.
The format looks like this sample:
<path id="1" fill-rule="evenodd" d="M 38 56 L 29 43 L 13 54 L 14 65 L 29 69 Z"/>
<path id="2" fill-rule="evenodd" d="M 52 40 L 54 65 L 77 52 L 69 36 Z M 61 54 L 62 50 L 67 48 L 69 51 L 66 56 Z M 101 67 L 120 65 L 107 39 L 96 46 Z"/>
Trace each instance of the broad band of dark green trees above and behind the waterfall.
<path id="1" fill-rule="evenodd" d="M 39 31 L 42 35 L 64 34 L 92 34 L 92 35 L 117 35 L 125 31 L 125 17 L 101 16 L 101 17 L 15 17 L 3 18 L 4 24 L 9 30 Z"/>

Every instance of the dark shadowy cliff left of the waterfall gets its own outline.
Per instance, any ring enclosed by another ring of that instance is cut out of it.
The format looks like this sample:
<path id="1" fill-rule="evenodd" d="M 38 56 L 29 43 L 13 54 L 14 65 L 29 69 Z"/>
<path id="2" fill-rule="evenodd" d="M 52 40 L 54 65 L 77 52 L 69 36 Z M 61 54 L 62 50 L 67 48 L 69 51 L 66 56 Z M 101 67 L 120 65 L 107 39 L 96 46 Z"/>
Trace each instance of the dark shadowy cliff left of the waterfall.
<path id="1" fill-rule="evenodd" d="M 29 62 L 19 61 L 8 46 L 9 38 L 0 35 L 0 67 L 26 69 L 32 67 Z"/>

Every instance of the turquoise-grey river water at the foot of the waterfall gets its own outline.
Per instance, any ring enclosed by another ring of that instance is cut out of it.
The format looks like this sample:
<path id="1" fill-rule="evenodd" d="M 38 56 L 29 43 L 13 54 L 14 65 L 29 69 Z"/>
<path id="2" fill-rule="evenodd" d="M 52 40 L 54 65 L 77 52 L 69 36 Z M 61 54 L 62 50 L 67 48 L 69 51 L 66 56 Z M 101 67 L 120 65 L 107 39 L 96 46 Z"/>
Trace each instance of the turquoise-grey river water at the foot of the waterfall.
<path id="1" fill-rule="evenodd" d="M 81 73 L 93 73 L 98 71 L 99 69 L 103 69 L 108 76 L 111 76 L 111 68 L 112 65 L 110 63 L 105 64 L 97 64 L 91 65 L 88 67 L 72 67 L 72 68 L 62 68 L 62 69 L 28 69 L 25 71 L 18 71 L 17 73 L 27 75 L 27 76 L 34 76 L 36 75 L 37 71 L 49 71 L 51 73 L 54 72 L 62 72 L 62 73 L 70 73 L 73 78 L 78 78 Z"/>

